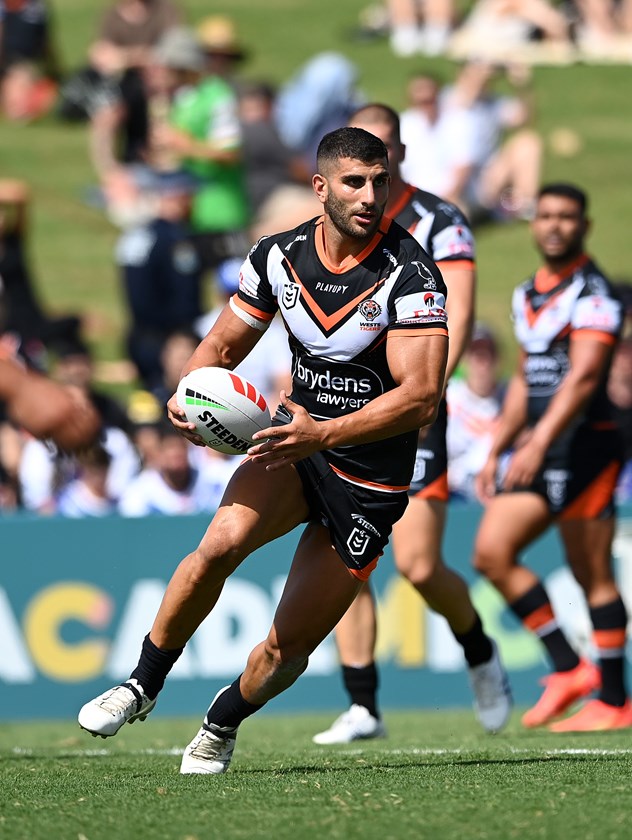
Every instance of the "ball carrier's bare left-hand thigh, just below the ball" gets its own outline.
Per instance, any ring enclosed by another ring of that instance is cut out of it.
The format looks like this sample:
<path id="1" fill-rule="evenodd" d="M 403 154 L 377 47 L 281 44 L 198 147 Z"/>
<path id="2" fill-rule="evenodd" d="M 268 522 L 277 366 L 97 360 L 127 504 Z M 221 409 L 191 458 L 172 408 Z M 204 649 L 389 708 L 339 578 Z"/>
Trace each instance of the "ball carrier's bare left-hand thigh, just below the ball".
<path id="1" fill-rule="evenodd" d="M 293 466 L 267 471 L 248 460 L 232 476 L 199 551 L 236 566 L 262 545 L 305 522 L 309 509 Z"/>

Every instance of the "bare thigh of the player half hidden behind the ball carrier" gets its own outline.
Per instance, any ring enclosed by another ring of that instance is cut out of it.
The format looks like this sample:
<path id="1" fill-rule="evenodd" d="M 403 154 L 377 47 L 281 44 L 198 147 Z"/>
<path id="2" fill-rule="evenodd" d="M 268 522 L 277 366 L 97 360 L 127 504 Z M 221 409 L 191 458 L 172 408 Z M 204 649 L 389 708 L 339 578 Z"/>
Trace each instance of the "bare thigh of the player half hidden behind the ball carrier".
<path id="1" fill-rule="evenodd" d="M 403 575 L 428 572 L 441 563 L 441 541 L 446 504 L 438 499 L 413 496 L 402 518 L 393 527 L 395 565 Z"/>

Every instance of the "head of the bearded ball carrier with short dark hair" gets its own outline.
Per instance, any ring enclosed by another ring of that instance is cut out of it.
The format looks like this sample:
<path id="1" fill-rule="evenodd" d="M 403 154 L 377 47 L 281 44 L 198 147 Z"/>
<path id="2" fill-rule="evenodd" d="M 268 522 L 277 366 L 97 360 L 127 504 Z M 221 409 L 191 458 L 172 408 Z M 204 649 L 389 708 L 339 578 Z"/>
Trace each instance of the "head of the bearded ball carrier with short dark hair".
<path id="1" fill-rule="evenodd" d="M 339 128 L 320 141 L 314 191 L 345 237 L 366 240 L 377 231 L 388 201 L 388 150 L 361 128 Z"/>

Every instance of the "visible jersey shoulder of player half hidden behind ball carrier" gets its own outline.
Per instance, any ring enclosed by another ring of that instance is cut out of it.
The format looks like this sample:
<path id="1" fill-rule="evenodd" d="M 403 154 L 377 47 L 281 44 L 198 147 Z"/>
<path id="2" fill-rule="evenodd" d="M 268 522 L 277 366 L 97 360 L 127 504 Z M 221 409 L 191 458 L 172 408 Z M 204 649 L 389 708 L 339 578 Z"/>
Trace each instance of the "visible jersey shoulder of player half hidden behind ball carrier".
<path id="1" fill-rule="evenodd" d="M 389 216 L 415 237 L 439 267 L 474 262 L 474 235 L 455 204 L 407 184 L 399 201 L 389 208 Z"/>

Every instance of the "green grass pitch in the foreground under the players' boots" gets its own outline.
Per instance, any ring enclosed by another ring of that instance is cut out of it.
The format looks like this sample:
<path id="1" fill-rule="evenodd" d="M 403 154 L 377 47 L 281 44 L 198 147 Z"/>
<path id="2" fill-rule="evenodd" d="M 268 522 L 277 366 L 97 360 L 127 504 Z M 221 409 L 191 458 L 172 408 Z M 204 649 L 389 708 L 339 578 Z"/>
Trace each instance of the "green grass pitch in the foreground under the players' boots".
<path id="1" fill-rule="evenodd" d="M 197 721 L 102 741 L 70 723 L 0 727 L 0 836 L 628 840 L 629 732 L 480 732 L 467 712 L 386 715 L 389 738 L 318 747 L 323 715 L 247 721 L 229 773 L 181 777 Z"/>

